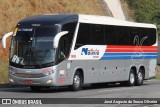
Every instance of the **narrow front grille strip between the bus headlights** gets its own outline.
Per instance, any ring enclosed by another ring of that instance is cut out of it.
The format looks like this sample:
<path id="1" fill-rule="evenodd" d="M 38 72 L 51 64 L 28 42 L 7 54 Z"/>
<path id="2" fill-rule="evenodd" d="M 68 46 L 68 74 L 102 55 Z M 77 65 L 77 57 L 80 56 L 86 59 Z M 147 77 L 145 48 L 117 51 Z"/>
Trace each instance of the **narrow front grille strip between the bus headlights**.
<path id="1" fill-rule="evenodd" d="M 14 75 L 22 78 L 41 78 L 45 76 L 43 73 L 40 73 L 40 74 L 15 73 Z"/>

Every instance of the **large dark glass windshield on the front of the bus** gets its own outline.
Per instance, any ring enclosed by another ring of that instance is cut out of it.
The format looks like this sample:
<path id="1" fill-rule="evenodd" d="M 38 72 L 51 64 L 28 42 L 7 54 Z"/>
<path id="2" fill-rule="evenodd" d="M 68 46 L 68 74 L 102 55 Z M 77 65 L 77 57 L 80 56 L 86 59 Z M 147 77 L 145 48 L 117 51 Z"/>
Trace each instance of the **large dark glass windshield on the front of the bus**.
<path id="1" fill-rule="evenodd" d="M 55 61 L 53 40 L 58 27 L 17 28 L 11 44 L 10 62 L 36 66 Z"/>

